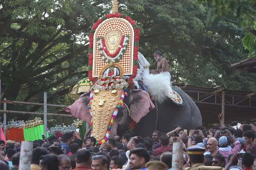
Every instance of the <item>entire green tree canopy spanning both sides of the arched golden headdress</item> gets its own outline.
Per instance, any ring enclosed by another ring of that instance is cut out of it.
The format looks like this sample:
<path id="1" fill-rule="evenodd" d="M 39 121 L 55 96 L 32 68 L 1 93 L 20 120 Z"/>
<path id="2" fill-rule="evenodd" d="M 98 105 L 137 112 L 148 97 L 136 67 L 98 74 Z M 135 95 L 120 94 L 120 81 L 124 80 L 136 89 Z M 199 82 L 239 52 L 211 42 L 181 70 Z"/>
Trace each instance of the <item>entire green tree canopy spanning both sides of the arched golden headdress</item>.
<path id="1" fill-rule="evenodd" d="M 177 83 L 255 90 L 254 74 L 229 67 L 248 56 L 242 46 L 245 32 L 234 15 L 218 16 L 207 24 L 212 4 L 187 0 L 123 0 L 119 6 L 140 27 L 140 51 L 152 68 L 152 54 L 160 50 Z M 4 97 L 42 103 L 47 91 L 49 103 L 70 105 L 70 86 L 87 76 L 90 29 L 110 11 L 111 2 L 105 0 L 1 1 Z M 34 112 L 39 107 L 8 109 Z"/>

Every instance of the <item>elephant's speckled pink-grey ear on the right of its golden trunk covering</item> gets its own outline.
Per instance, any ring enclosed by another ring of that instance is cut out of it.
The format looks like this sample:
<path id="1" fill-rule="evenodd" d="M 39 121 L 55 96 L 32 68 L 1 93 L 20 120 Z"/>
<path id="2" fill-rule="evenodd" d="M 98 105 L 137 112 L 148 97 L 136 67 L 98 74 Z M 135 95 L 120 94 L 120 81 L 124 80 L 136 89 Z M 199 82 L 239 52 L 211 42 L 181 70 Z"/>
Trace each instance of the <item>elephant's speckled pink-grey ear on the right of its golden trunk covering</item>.
<path id="1" fill-rule="evenodd" d="M 155 108 L 147 92 L 142 89 L 132 90 L 129 97 L 130 117 L 136 123 L 143 118 L 149 109 Z"/>

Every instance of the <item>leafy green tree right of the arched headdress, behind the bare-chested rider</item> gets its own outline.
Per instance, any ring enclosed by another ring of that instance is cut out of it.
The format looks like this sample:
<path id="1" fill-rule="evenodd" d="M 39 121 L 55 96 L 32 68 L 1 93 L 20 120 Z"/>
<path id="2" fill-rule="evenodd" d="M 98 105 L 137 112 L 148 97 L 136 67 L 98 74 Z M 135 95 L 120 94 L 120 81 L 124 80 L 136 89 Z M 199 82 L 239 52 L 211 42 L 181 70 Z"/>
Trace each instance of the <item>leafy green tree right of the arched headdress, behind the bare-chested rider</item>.
<path id="1" fill-rule="evenodd" d="M 152 57 L 155 50 L 164 52 L 173 80 L 255 90 L 255 75 L 230 68 L 248 55 L 242 47 L 244 31 L 233 15 L 207 24 L 212 9 L 207 3 L 155 0 L 127 1 L 126 5 L 127 13 L 141 26 L 140 50 L 146 57 Z"/>

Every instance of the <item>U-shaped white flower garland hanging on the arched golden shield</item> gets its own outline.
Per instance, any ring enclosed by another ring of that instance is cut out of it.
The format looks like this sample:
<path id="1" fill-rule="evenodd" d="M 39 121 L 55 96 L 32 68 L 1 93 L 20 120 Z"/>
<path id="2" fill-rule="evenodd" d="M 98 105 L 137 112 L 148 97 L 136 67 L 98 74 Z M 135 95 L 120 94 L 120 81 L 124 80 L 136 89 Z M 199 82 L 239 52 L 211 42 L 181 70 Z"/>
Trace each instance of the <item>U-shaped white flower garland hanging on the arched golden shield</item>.
<path id="1" fill-rule="evenodd" d="M 103 50 L 103 44 L 102 44 L 102 39 L 103 37 L 99 38 L 99 41 L 98 41 L 98 45 L 99 45 L 99 50 L 100 50 L 100 53 L 101 53 L 101 57 L 103 59 L 103 61 L 105 63 L 110 63 L 111 60 L 115 60 L 116 63 L 119 62 L 119 60 L 123 57 L 124 53 L 125 53 L 125 50 L 127 48 L 127 45 L 128 45 L 128 42 L 129 42 L 129 36 L 126 35 L 125 38 L 124 38 L 124 42 L 122 44 L 122 46 L 124 46 L 123 48 L 120 49 L 120 52 L 113 58 L 111 58 L 110 56 L 108 56 L 105 51 Z M 119 46 L 120 47 L 120 46 Z"/>

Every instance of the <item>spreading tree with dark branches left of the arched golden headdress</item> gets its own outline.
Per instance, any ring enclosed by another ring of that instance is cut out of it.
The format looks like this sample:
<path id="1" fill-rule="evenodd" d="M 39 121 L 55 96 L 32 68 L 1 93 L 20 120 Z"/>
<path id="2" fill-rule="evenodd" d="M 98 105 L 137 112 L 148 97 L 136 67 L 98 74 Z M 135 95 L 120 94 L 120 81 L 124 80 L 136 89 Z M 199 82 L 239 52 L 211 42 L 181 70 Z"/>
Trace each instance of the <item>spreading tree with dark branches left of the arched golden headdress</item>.
<path id="1" fill-rule="evenodd" d="M 2 92 L 9 100 L 48 101 L 86 76 L 87 35 L 100 11 L 86 0 L 1 2 Z M 84 44 L 77 43 L 84 41 Z M 12 107 L 9 109 L 19 109 Z M 30 108 L 34 112 L 37 106 Z"/>

